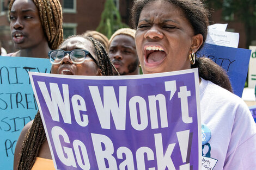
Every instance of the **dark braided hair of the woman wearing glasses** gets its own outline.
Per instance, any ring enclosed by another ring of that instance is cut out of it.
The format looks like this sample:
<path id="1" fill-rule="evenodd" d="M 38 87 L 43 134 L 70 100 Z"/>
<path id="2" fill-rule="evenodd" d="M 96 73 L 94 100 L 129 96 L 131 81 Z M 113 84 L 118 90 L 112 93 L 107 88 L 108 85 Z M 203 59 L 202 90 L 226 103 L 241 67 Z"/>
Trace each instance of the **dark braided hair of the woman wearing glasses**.
<path id="1" fill-rule="evenodd" d="M 71 37 L 83 37 L 84 39 L 92 42 L 95 54 L 99 61 L 99 64 L 97 65 L 101 69 L 102 75 L 114 75 L 112 67 L 115 69 L 115 71 L 117 71 L 117 69 L 113 66 L 111 60 L 109 59 L 105 47 L 99 41 L 96 41 L 93 39 L 93 37 L 84 37 L 82 35 L 70 36 L 68 39 Z M 33 167 L 36 156 L 38 156 L 39 150 L 45 140 L 46 134 L 44 125 L 42 124 L 40 112 L 38 111 L 22 144 L 21 157 L 18 167 L 19 170 L 30 170 Z"/>

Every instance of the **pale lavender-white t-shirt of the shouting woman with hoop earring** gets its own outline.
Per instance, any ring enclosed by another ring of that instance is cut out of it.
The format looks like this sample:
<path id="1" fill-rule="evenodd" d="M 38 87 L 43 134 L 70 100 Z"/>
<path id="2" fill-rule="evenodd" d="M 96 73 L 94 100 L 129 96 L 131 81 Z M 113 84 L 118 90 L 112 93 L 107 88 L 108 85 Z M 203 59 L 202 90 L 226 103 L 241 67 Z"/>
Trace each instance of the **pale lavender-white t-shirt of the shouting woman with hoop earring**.
<path id="1" fill-rule="evenodd" d="M 243 100 L 220 86 L 200 83 L 202 123 L 211 131 L 202 170 L 255 170 L 256 124 Z"/>

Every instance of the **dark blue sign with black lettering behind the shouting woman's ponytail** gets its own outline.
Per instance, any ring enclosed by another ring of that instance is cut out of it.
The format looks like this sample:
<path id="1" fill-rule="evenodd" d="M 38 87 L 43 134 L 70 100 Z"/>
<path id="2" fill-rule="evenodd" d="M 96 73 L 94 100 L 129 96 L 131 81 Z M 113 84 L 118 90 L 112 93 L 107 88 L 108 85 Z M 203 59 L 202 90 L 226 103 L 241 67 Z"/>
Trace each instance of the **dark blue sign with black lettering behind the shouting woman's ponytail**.
<path id="1" fill-rule="evenodd" d="M 227 71 L 235 95 L 242 97 L 248 72 L 251 50 L 205 43 L 197 57 L 206 57 Z"/>

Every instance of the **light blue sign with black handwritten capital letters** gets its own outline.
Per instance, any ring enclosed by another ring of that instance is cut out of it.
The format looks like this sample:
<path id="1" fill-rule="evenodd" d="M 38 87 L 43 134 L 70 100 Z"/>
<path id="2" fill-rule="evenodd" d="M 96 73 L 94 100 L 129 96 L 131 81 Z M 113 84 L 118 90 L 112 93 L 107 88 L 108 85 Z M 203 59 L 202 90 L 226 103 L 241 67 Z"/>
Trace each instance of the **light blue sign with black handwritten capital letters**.
<path id="1" fill-rule="evenodd" d="M 0 169 L 13 169 L 17 139 L 38 110 L 28 72 L 50 68 L 49 59 L 0 56 Z"/>

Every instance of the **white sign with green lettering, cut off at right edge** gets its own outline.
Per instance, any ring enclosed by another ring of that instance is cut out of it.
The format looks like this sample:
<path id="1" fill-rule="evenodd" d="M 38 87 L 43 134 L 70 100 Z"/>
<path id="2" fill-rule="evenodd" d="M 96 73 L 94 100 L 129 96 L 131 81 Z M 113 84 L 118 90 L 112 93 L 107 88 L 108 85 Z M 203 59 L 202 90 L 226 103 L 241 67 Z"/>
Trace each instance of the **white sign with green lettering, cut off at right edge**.
<path id="1" fill-rule="evenodd" d="M 256 86 L 256 46 L 249 46 L 252 50 L 248 71 L 248 87 L 254 89 Z"/>

